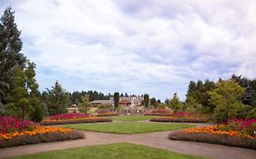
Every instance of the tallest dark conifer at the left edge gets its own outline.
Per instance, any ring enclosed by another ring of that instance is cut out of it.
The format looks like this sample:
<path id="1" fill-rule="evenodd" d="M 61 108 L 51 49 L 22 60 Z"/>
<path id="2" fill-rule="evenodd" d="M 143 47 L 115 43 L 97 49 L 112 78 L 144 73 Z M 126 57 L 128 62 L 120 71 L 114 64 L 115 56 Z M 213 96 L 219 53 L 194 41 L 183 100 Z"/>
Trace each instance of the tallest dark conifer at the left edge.
<path id="1" fill-rule="evenodd" d="M 15 16 L 11 7 L 5 9 L 0 19 L 0 103 L 6 104 L 5 97 L 14 85 L 11 85 L 13 70 L 19 66 L 23 70 L 26 66 L 26 57 L 21 54 L 22 41 L 20 31 L 15 24 Z"/>

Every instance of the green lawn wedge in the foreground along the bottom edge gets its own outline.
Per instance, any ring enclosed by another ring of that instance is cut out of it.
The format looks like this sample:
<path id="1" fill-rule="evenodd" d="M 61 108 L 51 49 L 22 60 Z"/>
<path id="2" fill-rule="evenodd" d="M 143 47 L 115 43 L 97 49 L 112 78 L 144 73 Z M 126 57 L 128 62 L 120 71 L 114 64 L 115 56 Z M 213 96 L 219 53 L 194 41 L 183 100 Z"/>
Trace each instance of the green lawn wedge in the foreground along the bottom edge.
<path id="1" fill-rule="evenodd" d="M 28 154 L 12 159 L 202 159 L 202 157 L 172 153 L 162 149 L 138 144 L 105 144 L 52 151 L 40 154 Z"/>

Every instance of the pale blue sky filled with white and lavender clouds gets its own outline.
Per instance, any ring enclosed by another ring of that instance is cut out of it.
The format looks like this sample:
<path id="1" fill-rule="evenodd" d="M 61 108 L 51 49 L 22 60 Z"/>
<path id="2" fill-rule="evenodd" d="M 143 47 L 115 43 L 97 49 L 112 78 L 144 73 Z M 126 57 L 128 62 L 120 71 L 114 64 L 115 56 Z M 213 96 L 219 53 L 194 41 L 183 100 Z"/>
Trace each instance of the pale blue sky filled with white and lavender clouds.
<path id="1" fill-rule="evenodd" d="M 43 91 L 185 99 L 189 81 L 256 77 L 255 0 L 0 0 Z"/>

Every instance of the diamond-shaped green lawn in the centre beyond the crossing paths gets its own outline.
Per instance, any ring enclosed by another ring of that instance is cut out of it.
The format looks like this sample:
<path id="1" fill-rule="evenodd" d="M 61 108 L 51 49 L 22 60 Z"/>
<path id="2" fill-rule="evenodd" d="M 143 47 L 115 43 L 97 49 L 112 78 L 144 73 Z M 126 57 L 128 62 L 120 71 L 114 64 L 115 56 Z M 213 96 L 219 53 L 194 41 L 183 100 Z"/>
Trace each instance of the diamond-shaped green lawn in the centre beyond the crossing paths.
<path id="1" fill-rule="evenodd" d="M 138 134 L 148 132 L 158 132 L 167 130 L 176 130 L 193 127 L 192 124 L 159 124 L 159 123 L 106 123 L 106 124 L 65 124 L 63 127 L 78 130 L 88 130 L 94 132 L 104 132 L 113 134 Z"/>

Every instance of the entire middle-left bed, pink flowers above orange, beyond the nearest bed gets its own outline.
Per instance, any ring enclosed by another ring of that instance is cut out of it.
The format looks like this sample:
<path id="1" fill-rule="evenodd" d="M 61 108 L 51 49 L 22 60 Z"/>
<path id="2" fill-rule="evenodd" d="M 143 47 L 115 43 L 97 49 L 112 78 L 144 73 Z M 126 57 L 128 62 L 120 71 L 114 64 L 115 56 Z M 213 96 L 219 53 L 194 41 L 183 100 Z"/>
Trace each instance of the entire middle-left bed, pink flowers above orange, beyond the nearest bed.
<path id="1" fill-rule="evenodd" d="M 78 123 L 101 123 L 112 122 L 111 118 L 89 116 L 88 114 L 57 114 L 48 116 L 40 124 L 78 124 Z"/>

